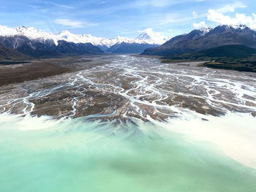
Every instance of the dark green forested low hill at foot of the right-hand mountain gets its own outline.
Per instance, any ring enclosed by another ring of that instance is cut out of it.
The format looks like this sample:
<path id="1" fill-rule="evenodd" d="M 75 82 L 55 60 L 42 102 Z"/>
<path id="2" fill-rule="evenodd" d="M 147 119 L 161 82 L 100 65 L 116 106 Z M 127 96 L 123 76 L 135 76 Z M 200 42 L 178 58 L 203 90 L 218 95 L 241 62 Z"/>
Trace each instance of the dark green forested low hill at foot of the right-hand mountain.
<path id="1" fill-rule="evenodd" d="M 256 72 L 256 50 L 244 45 L 224 45 L 197 53 L 184 53 L 162 58 L 163 62 L 208 61 L 203 66 Z"/>

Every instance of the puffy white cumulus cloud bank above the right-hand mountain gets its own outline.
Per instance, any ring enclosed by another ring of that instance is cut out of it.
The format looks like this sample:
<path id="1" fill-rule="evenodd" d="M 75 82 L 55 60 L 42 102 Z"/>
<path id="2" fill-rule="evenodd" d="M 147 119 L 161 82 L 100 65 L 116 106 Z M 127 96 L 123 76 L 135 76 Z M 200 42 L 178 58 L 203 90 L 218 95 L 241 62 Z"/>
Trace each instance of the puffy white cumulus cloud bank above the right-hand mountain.
<path id="1" fill-rule="evenodd" d="M 221 12 L 218 12 L 214 9 L 208 10 L 207 19 L 213 21 L 219 25 L 246 25 L 250 28 L 256 28 L 256 18 L 255 14 L 252 16 L 247 16 L 246 14 L 236 13 L 236 15 L 232 18 L 229 15 L 223 15 Z"/>

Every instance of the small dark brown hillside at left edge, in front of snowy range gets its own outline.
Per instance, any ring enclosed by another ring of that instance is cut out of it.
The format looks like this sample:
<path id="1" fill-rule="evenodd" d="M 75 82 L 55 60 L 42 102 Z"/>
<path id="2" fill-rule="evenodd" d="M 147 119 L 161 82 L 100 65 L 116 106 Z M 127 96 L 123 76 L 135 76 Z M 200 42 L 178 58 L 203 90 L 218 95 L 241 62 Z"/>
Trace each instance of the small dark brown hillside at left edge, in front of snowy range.
<path id="1" fill-rule="evenodd" d="M 10 47 L 7 47 L 5 45 L 2 45 L 0 43 L 0 59 L 1 60 L 21 60 L 29 58 L 27 55 L 23 55 L 22 53 L 19 53 L 16 50 L 11 49 Z"/>

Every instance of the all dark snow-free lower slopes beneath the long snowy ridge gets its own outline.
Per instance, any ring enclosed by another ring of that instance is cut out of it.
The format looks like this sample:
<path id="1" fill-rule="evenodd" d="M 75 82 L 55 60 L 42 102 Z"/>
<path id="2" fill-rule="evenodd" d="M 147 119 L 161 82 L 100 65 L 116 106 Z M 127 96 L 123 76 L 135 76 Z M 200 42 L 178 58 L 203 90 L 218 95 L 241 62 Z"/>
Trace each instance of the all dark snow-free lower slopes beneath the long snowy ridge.
<path id="1" fill-rule="evenodd" d="M 138 44 L 138 43 L 117 43 L 111 47 L 94 46 L 91 43 L 58 41 L 55 45 L 53 40 L 34 39 L 25 36 L 0 37 L 0 43 L 18 50 L 20 53 L 33 57 L 51 57 L 63 54 L 75 55 L 97 55 L 103 53 L 142 53 L 147 48 L 157 47 L 158 45 Z M 103 51 L 104 50 L 104 51 Z"/>

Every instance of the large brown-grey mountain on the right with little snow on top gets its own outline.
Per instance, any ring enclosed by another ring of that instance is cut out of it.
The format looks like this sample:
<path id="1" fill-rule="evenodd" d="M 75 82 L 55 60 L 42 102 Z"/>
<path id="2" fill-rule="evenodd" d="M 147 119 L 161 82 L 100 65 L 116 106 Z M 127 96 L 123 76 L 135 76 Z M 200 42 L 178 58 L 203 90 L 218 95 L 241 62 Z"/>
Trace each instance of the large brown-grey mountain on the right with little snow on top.
<path id="1" fill-rule="evenodd" d="M 175 55 L 182 53 L 195 53 L 200 50 L 220 47 L 223 45 L 245 45 L 256 48 L 256 31 L 240 26 L 217 26 L 208 33 L 194 30 L 187 35 L 170 39 L 160 47 L 145 50 L 143 55 Z"/>

